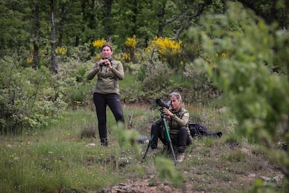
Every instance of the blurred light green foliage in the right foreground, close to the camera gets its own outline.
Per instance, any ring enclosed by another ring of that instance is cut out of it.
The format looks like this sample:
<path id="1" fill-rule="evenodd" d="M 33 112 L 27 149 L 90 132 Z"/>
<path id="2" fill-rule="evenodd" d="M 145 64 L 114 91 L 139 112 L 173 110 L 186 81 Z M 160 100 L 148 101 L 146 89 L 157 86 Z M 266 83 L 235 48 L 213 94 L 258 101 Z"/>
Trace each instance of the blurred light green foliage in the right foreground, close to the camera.
<path id="1" fill-rule="evenodd" d="M 237 131 L 266 145 L 268 155 L 289 178 L 289 164 L 284 162 L 288 152 L 274 150 L 277 143 L 289 140 L 289 92 L 284 89 L 289 87 L 288 74 L 274 72 L 279 55 L 288 55 L 288 45 L 282 43 L 288 41 L 288 31 L 281 35 L 239 3 L 228 3 L 224 15 L 207 15 L 201 23 L 202 31 L 191 30 L 204 49 L 195 64 L 205 68 L 229 97 Z M 274 51 L 280 46 L 284 49 Z M 279 66 L 288 66 L 288 59 L 283 57 Z"/>

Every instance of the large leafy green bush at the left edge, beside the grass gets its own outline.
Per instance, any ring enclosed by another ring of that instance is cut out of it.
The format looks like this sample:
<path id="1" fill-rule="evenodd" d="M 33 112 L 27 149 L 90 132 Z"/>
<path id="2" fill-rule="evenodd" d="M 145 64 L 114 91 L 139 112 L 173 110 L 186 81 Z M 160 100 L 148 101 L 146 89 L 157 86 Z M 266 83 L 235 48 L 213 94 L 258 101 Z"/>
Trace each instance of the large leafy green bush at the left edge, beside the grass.
<path id="1" fill-rule="evenodd" d="M 12 58 L 1 59 L 1 134 L 36 129 L 66 110 L 62 96 L 55 96 L 53 77 L 42 68 L 23 69 Z"/>

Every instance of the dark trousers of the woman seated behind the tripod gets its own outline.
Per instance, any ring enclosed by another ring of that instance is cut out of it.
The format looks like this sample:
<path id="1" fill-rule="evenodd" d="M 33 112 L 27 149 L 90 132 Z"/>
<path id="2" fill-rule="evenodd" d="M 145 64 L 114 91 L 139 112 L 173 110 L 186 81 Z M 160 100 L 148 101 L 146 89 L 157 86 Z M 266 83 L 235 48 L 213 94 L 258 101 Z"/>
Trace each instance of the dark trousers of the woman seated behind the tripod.
<path id="1" fill-rule="evenodd" d="M 164 145 L 168 144 L 168 139 L 165 138 L 165 128 L 163 128 L 163 123 L 154 122 L 151 125 L 151 149 L 156 149 L 158 147 L 158 138 Z M 179 134 L 170 134 L 170 139 L 172 141 L 172 145 L 177 146 L 177 152 L 183 153 L 186 145 L 190 145 L 192 143 L 191 138 L 188 136 L 188 132 L 186 131 L 186 127 L 179 128 Z"/>

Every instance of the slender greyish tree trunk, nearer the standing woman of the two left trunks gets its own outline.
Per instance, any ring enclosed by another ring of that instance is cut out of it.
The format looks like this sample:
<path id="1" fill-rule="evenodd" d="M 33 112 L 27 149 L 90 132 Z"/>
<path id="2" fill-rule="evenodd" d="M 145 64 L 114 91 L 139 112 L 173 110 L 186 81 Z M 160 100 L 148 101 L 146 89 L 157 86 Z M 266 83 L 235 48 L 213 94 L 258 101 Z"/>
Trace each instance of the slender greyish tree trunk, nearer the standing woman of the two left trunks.
<path id="1" fill-rule="evenodd" d="M 55 34 L 55 23 L 54 23 L 54 1 L 50 0 L 50 13 L 51 13 L 51 66 L 52 71 L 56 74 L 58 69 L 58 64 L 56 61 L 55 44 L 56 44 L 56 34 Z"/>

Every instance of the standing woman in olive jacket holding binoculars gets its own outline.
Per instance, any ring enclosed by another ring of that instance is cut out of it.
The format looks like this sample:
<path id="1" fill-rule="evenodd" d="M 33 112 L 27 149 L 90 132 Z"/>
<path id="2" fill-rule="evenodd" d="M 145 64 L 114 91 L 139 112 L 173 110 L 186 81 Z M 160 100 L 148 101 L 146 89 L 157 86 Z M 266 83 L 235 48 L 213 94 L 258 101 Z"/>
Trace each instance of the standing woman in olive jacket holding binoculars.
<path id="1" fill-rule="evenodd" d="M 98 133 L 101 145 L 108 146 L 106 128 L 106 106 L 110 107 L 117 122 L 124 122 L 124 113 L 119 97 L 119 80 L 124 79 L 124 67 L 121 62 L 112 59 L 112 47 L 108 44 L 101 48 L 101 60 L 96 62 L 87 75 L 92 80 L 97 75 L 94 86 L 94 105 L 98 118 Z"/>

